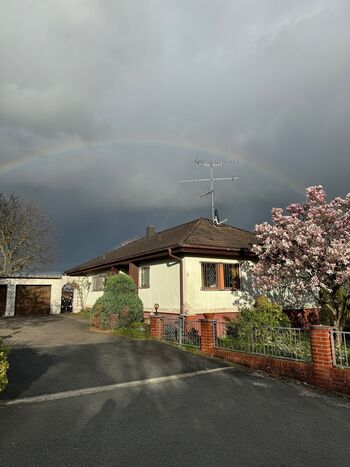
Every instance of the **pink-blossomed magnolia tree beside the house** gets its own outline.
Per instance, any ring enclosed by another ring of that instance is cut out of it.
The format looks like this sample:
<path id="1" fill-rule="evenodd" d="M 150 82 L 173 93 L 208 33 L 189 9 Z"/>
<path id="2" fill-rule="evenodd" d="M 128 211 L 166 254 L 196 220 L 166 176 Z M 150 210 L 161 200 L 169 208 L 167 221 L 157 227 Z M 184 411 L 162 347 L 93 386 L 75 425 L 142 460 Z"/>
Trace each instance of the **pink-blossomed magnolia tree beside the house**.
<path id="1" fill-rule="evenodd" d="M 286 211 L 273 208 L 272 225 L 255 227 L 255 285 L 298 297 L 312 293 L 339 330 L 350 309 L 350 193 L 327 202 L 322 186 L 312 186 L 304 203 Z"/>

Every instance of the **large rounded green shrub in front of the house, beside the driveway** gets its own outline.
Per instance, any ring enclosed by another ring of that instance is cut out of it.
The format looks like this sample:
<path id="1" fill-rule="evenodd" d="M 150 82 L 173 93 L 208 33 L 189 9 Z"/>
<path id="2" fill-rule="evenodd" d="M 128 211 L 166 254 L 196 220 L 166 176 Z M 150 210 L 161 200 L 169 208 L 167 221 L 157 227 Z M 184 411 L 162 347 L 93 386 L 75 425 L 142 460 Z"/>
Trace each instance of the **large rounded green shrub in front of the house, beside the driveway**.
<path id="1" fill-rule="evenodd" d="M 132 279 L 125 274 L 110 276 L 104 294 L 92 308 L 93 322 L 102 329 L 127 328 L 143 321 L 143 304 Z"/>

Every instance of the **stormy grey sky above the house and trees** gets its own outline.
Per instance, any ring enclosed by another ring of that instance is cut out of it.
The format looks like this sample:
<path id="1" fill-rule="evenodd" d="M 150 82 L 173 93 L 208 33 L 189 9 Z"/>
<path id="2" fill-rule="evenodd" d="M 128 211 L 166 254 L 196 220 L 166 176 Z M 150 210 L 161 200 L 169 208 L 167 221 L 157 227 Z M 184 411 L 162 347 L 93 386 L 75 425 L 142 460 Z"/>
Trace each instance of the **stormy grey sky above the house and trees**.
<path id="1" fill-rule="evenodd" d="M 121 240 L 349 190 L 347 0 L 0 0 L 0 191 L 56 225 L 62 270 Z"/>

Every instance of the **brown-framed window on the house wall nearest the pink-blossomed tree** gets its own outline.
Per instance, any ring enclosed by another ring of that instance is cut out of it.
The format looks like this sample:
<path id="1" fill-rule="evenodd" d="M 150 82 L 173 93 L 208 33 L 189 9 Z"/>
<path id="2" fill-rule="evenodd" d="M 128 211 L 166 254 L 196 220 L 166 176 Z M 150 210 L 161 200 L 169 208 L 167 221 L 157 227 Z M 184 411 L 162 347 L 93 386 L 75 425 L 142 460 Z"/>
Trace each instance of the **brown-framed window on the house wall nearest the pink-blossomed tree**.
<path id="1" fill-rule="evenodd" d="M 239 288 L 239 264 L 202 263 L 202 289 L 238 290 Z"/>

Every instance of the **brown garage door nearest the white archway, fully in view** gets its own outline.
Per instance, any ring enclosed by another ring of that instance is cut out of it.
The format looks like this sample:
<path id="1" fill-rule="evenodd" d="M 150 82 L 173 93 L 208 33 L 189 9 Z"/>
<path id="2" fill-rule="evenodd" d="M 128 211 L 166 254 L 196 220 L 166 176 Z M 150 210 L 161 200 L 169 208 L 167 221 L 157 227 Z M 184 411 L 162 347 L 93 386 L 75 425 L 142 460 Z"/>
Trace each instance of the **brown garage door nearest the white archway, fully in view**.
<path id="1" fill-rule="evenodd" d="M 17 285 L 15 314 L 49 314 L 50 301 L 50 285 Z"/>

